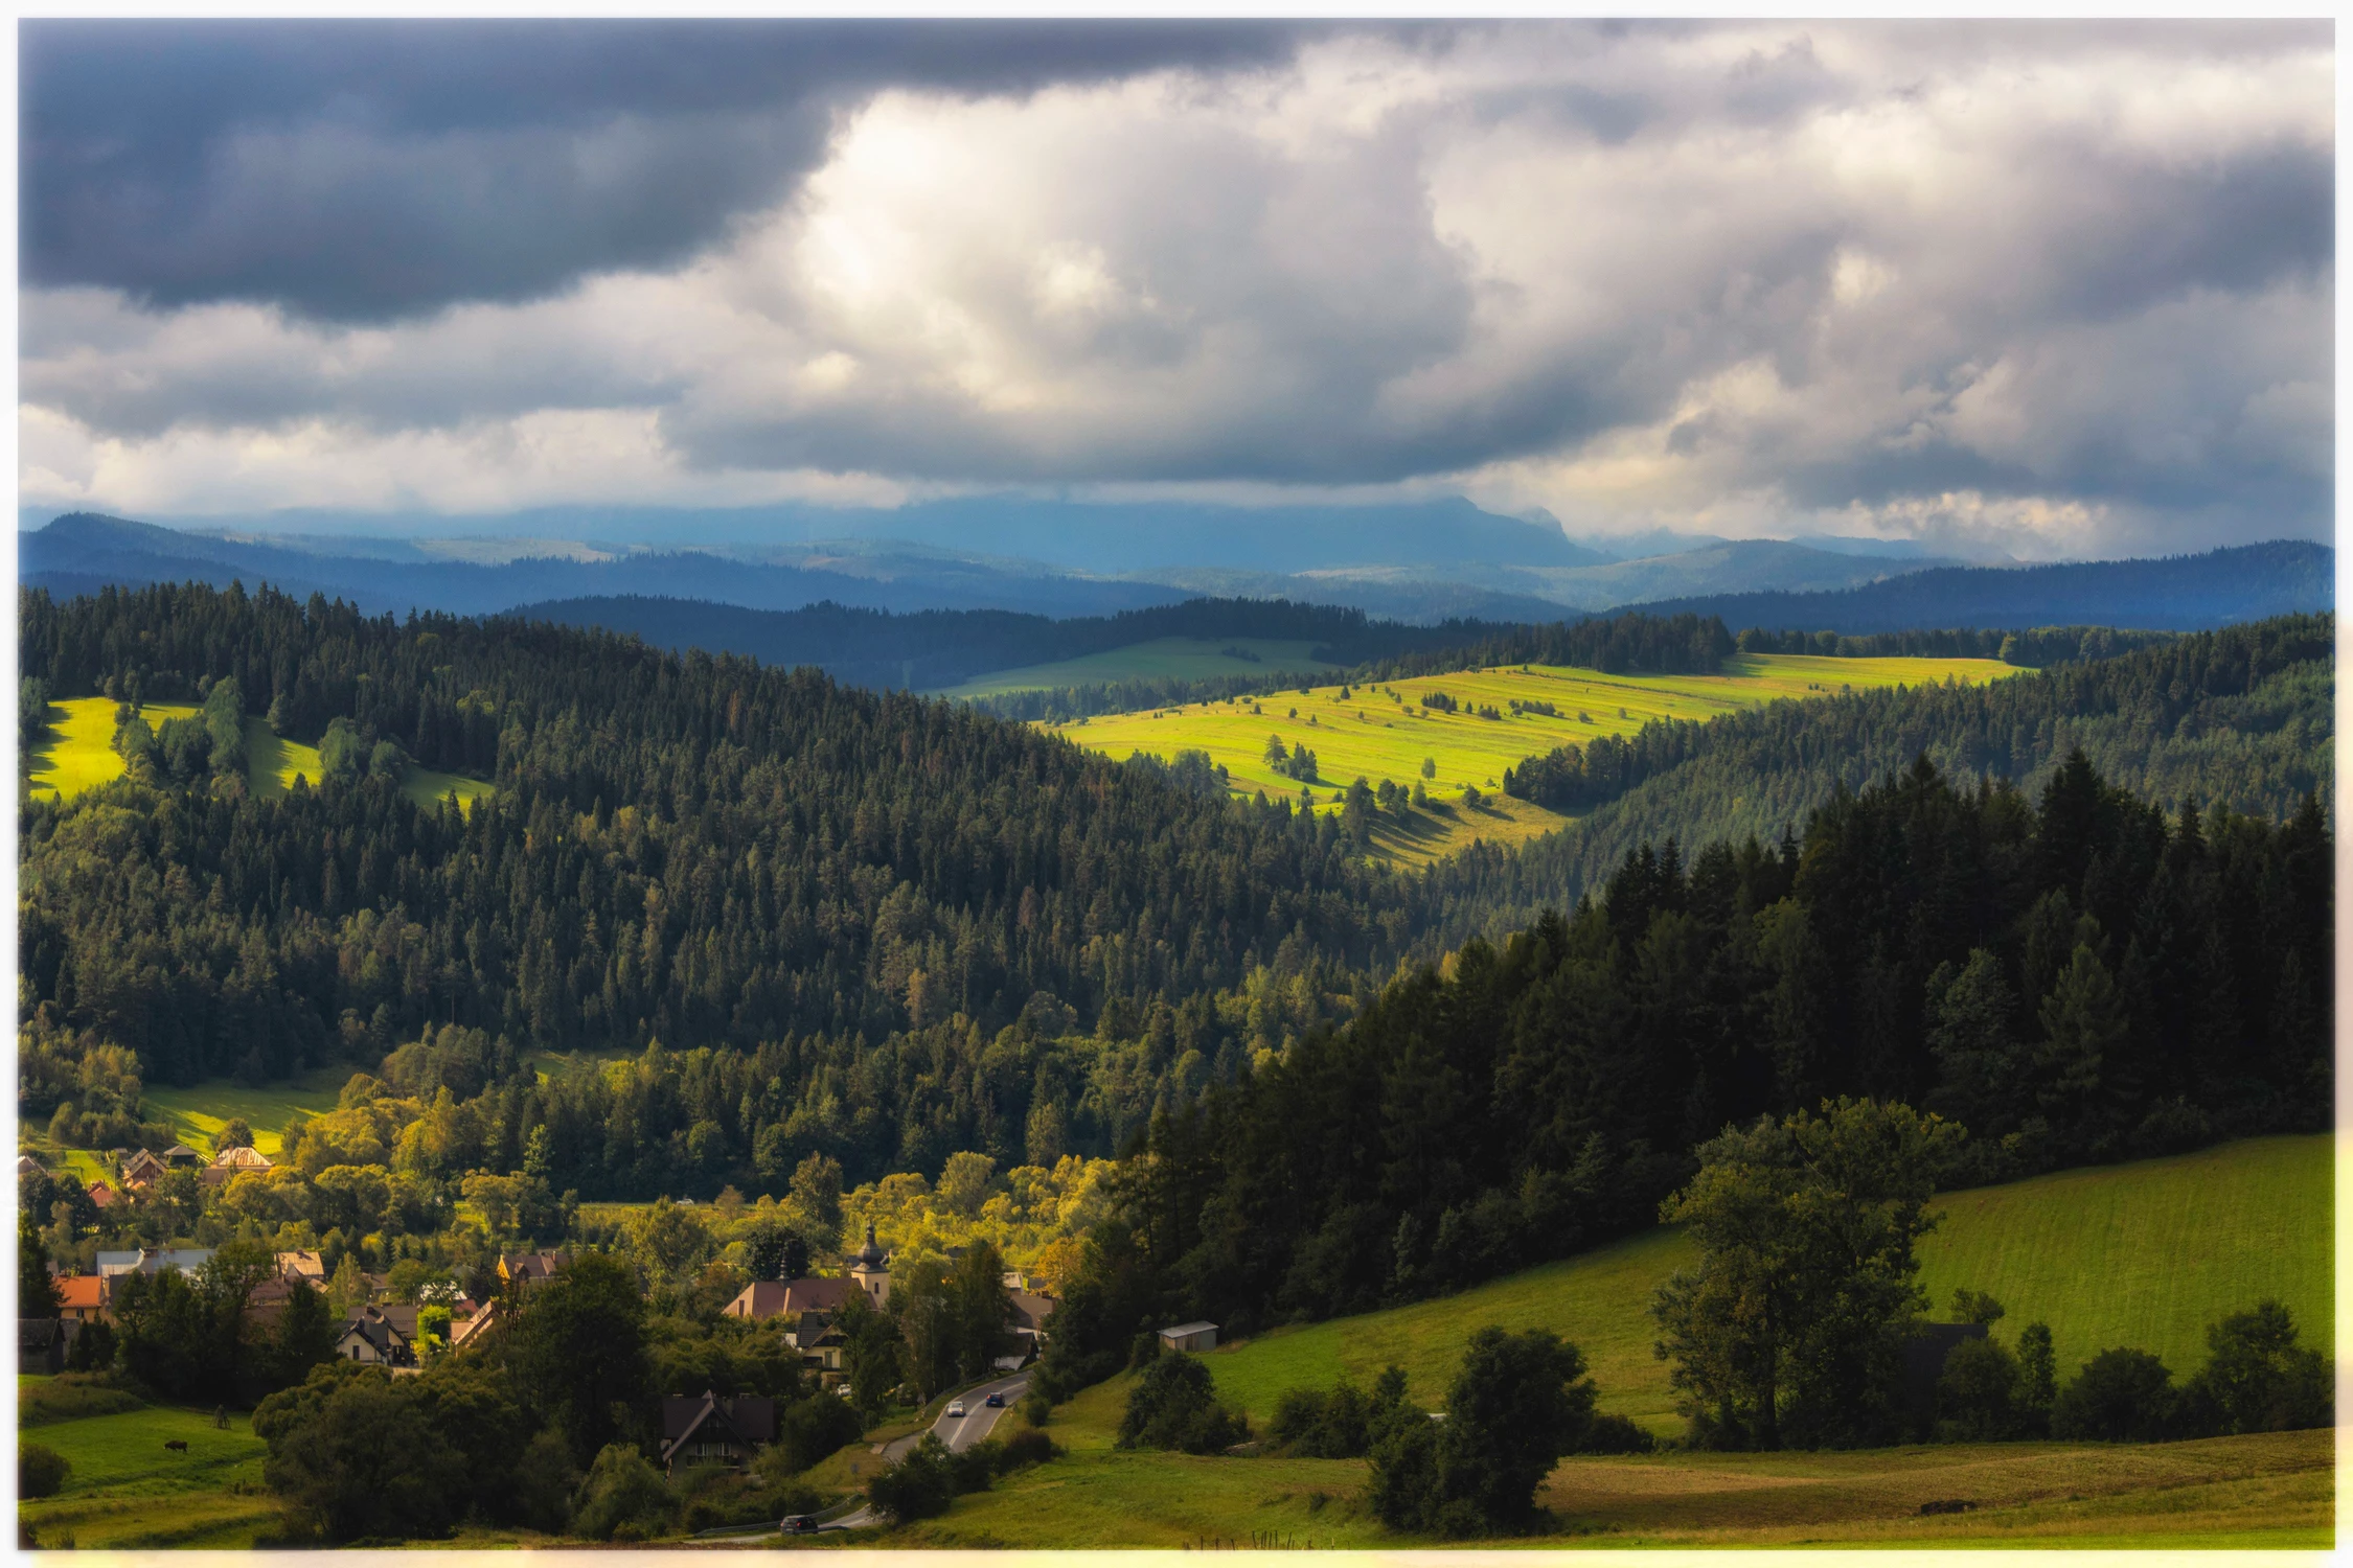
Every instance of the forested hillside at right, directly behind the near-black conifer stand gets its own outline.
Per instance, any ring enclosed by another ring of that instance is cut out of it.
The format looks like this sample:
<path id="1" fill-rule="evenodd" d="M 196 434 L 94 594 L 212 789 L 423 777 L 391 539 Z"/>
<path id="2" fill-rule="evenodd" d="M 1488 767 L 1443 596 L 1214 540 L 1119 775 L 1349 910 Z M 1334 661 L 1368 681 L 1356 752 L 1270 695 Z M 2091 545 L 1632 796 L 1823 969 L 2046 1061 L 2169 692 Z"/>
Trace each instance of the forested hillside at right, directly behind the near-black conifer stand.
<path id="1" fill-rule="evenodd" d="M 2334 616 L 2285 616 L 2033 677 L 1772 703 L 1534 757 L 1508 788 L 1586 816 L 1520 853 L 1440 865 L 1431 891 L 1454 910 L 1440 929 L 1518 929 L 1600 886 L 1642 842 L 1777 842 L 1838 790 L 1922 755 L 1951 778 L 2040 788 L 2082 748 L 2144 799 L 2280 820 L 2334 792 Z"/>

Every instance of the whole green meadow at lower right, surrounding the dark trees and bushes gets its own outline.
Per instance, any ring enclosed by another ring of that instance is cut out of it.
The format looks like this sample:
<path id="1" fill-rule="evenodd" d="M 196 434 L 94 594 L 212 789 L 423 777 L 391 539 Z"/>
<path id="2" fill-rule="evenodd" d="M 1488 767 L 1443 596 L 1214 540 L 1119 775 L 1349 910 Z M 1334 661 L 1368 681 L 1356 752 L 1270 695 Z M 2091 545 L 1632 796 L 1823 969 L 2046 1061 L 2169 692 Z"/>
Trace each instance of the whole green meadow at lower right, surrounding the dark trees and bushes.
<path id="1" fill-rule="evenodd" d="M 2052 1324 L 2061 1375 L 2094 1349 L 2139 1345 L 2177 1373 L 2205 1361 L 2205 1326 L 2282 1298 L 2306 1342 L 2332 1333 L 2332 1143 L 2247 1143 L 2101 1171 L 1955 1192 L 1922 1246 L 1922 1284 L 2009 1307 L 2002 1331 Z M 1264 1429 L 1294 1385 L 1367 1385 L 1407 1368 L 1435 1406 L 1471 1333 L 1553 1328 L 1577 1340 L 1602 1408 L 1680 1432 L 1652 1356 L 1649 1293 L 1689 1258 L 1649 1232 L 1494 1284 L 1332 1324 L 1285 1328 L 1205 1359 L 1219 1394 Z M 842 1544 L 880 1547 L 1419 1547 L 1365 1512 L 1362 1460 L 1120 1453 L 1134 1375 L 1059 1406 L 1068 1453 L 944 1519 Z M 1009 1434 L 1019 1418 L 1000 1432 Z M 1529 1547 L 2299 1547 L 2334 1544 L 2334 1434 L 2193 1443 L 1953 1443 L 1868 1453 L 1657 1453 L 1562 1460 L 1539 1493 L 1560 1533 Z M 1920 1514 L 1965 1500 L 1967 1512 Z"/>

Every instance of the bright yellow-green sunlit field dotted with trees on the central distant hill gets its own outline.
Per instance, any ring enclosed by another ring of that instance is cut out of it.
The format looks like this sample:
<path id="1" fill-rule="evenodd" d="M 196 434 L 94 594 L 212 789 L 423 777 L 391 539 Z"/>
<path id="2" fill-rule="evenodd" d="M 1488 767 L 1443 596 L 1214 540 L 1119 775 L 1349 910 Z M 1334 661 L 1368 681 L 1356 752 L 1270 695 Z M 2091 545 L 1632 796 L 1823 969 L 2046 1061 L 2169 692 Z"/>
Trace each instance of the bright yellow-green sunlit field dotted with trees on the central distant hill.
<path id="1" fill-rule="evenodd" d="M 1275 696 L 1231 698 L 1047 724 L 1087 750 L 1127 759 L 1209 752 L 1233 790 L 1268 797 L 1313 792 L 1318 811 L 1337 811 L 1341 792 L 1362 778 L 1421 783 L 1435 811 L 1419 823 L 1384 823 L 1374 842 L 1398 860 L 1428 860 L 1473 839 L 1515 842 L 1562 825 L 1565 816 L 1518 799 L 1494 799 L 1504 769 L 1560 745 L 1631 736 L 1652 719 L 1713 719 L 1777 698 L 1831 696 L 1922 682 L 1986 682 L 2019 675 L 1993 658 L 1814 658 L 1741 654 L 1718 675 L 1602 675 L 1567 665 L 1511 665 L 1426 675 L 1372 686 L 1313 686 Z M 1346 693 L 1346 696 L 1344 696 Z M 1433 708 L 1438 696 L 1454 710 Z M 1494 717 L 1482 717 L 1494 715 Z M 1268 738 L 1315 752 L 1313 783 L 1278 773 Z M 1428 764 L 1428 773 L 1424 773 Z M 1466 790 L 1485 799 L 1473 806 Z"/>

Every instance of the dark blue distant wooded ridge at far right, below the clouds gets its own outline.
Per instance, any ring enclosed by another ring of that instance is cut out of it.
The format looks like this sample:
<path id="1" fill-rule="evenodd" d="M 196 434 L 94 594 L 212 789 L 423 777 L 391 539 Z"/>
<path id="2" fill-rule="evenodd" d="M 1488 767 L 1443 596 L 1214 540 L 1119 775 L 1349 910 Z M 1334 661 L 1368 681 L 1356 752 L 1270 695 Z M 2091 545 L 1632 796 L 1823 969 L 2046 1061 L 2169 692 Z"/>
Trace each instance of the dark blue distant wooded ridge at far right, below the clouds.
<path id="1" fill-rule="evenodd" d="M 1805 632 L 2085 623 L 2188 632 L 2334 604 L 2337 552 L 2301 538 L 2273 538 L 2162 559 L 1932 567 L 1833 592 L 1734 592 L 1626 609 L 1649 616 L 1722 616 L 1737 628 Z"/>

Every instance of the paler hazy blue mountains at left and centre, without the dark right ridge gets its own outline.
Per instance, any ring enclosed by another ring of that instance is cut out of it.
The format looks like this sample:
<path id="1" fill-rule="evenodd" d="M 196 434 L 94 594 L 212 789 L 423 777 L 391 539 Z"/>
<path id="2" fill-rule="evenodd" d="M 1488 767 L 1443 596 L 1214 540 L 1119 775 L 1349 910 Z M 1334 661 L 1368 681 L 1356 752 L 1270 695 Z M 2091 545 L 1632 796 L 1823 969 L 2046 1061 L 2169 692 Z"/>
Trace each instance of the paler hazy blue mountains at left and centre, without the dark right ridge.
<path id="1" fill-rule="evenodd" d="M 1562 611 L 1725 588 L 1868 583 L 1901 562 L 1779 541 L 1704 541 L 1612 562 L 1551 522 L 1468 501 L 1391 508 L 1207 508 L 955 501 L 894 512 L 800 508 L 776 534 L 675 538 L 673 512 L 527 515 L 494 538 L 167 529 L 68 512 L 21 536 L 19 574 L 56 592 L 99 583 L 271 581 L 369 611 L 489 614 L 546 599 L 659 595 L 751 609 L 1099 616 L 1195 595 L 1346 604 L 1365 614 L 1555 621 Z M 586 524 L 602 534 L 560 534 Z M 859 534 L 809 536 L 816 529 Z M 889 527 L 882 536 L 878 529 Z M 633 543 L 609 543 L 626 538 Z M 988 543 L 988 552 L 974 548 Z M 1158 557 L 1155 564 L 1153 557 Z M 1139 564 L 1146 562 L 1146 564 Z"/>

